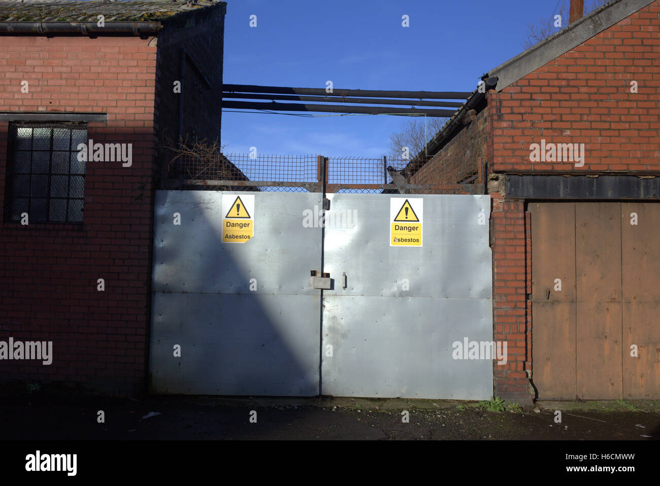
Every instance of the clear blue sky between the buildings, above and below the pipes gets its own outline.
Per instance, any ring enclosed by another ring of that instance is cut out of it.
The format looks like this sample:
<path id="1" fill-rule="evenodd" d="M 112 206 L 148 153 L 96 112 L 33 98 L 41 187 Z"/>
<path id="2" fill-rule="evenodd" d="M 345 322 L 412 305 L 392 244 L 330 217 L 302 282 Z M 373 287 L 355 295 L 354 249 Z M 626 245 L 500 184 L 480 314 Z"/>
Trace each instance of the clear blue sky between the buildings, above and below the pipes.
<path id="1" fill-rule="evenodd" d="M 557 0 L 227 0 L 226 84 L 472 91 Z M 249 16 L 257 26 L 249 26 Z M 408 15 L 410 26 L 401 25 Z M 254 100 L 249 100 L 254 101 Z M 321 113 L 315 113 L 320 115 Z M 380 157 L 403 117 L 222 113 L 225 153 Z"/>

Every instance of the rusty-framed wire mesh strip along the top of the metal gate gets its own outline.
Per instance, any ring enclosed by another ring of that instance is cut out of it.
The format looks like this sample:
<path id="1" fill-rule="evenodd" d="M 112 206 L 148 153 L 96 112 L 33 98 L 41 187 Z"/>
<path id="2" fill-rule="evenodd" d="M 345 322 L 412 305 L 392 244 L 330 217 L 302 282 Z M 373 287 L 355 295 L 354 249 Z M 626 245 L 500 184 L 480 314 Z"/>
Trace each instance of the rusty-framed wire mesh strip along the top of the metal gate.
<path id="1" fill-rule="evenodd" d="M 437 161 L 436 161 L 437 162 Z M 478 193 L 479 163 L 361 157 L 224 154 L 179 157 L 174 175 L 185 189 L 325 193 Z"/>

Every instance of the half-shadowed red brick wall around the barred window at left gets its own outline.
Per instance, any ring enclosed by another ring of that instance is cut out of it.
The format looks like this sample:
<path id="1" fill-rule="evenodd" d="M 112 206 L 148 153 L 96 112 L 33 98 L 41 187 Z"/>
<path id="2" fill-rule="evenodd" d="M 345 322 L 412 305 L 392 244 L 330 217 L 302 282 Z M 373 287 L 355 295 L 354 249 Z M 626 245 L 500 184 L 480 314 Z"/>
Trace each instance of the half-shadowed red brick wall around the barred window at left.
<path id="1" fill-rule="evenodd" d="M 156 47 L 135 37 L 2 44 L 0 111 L 108 113 L 107 124 L 88 126 L 88 138 L 132 143 L 133 164 L 87 162 L 82 224 L 0 220 L 0 340 L 52 341 L 54 355 L 49 366 L 0 361 L 0 374 L 135 394 L 147 373 Z M 6 159 L 4 122 L 0 214 Z"/>

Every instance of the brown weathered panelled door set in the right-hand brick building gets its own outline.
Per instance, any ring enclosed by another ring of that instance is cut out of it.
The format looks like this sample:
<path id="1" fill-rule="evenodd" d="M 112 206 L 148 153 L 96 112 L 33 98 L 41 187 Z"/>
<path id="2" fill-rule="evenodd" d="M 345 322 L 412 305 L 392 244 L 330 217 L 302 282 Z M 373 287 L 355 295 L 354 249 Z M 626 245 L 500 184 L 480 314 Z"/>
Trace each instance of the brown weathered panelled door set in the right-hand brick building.
<path id="1" fill-rule="evenodd" d="M 539 398 L 658 398 L 660 205 L 535 203 L 529 211 Z"/>

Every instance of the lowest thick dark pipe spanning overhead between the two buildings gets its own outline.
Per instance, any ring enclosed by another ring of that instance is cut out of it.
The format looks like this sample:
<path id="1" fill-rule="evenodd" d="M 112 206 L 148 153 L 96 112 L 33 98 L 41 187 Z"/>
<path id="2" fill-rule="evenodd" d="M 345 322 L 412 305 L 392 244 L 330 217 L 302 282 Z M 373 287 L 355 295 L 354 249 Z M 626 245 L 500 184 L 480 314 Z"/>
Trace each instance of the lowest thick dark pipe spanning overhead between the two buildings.
<path id="1" fill-rule="evenodd" d="M 295 103 L 253 103 L 228 102 L 222 100 L 222 108 L 235 109 L 269 109 L 273 111 L 318 111 L 321 113 L 366 113 L 368 115 L 403 115 L 414 113 L 431 117 L 449 117 L 455 113 L 453 109 L 399 108 L 383 106 L 341 106 L 341 105 L 308 105 Z"/>

